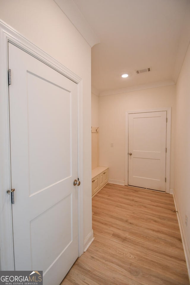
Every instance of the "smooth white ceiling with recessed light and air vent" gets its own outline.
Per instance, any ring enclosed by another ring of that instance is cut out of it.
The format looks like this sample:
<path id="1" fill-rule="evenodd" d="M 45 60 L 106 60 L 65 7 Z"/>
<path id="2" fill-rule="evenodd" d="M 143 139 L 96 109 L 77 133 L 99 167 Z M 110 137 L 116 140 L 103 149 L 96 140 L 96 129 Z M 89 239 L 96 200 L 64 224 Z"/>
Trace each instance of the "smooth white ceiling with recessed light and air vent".
<path id="1" fill-rule="evenodd" d="M 175 84 L 189 43 L 189 0 L 74 0 L 100 43 L 92 47 L 92 86 L 101 94 Z M 136 74 L 136 69 L 151 67 Z M 121 74 L 129 77 L 122 78 Z"/>

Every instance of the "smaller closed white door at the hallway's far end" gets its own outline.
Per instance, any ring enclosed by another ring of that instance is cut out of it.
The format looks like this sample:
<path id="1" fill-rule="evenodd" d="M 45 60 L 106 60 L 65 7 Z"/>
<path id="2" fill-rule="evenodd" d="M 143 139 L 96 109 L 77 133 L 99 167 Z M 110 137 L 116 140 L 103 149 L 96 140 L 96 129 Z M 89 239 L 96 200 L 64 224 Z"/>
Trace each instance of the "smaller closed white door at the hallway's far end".
<path id="1" fill-rule="evenodd" d="M 129 114 L 128 185 L 165 191 L 167 112 Z"/>

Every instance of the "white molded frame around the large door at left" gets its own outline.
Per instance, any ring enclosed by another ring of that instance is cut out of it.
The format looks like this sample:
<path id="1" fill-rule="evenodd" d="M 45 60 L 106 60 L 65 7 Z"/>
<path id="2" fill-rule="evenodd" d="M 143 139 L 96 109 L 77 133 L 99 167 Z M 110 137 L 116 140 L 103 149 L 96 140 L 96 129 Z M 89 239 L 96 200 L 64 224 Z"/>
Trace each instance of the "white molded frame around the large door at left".
<path id="1" fill-rule="evenodd" d="M 8 90 L 8 42 L 34 56 L 46 65 L 77 83 L 78 100 L 78 237 L 80 256 L 84 252 L 83 245 L 83 81 L 76 74 L 60 64 L 25 37 L 0 20 L 0 270 L 15 270 L 12 232 L 12 204 L 10 172 L 10 137 L 9 137 L 9 90 Z"/>

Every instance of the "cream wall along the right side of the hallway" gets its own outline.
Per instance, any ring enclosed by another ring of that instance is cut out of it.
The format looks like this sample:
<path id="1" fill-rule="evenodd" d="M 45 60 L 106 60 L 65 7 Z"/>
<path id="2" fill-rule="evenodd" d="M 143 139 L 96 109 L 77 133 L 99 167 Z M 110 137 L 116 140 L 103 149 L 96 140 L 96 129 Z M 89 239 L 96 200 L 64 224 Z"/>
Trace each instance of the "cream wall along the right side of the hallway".
<path id="1" fill-rule="evenodd" d="M 176 84 L 174 194 L 190 273 L 190 46 Z M 187 226 L 185 216 L 187 215 Z M 190 275 L 189 275 L 190 276 Z"/>

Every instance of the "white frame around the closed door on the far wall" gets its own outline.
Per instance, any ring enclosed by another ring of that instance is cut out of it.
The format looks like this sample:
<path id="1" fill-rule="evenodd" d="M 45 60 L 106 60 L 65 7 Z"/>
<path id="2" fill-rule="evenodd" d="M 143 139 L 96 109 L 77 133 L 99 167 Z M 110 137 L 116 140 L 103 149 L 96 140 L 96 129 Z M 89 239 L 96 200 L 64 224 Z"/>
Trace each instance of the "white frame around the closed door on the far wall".
<path id="1" fill-rule="evenodd" d="M 150 110 L 136 110 L 126 112 L 125 125 L 125 185 L 128 186 L 128 145 L 129 145 L 129 114 L 135 113 L 149 113 L 149 112 L 167 112 L 167 126 L 166 126 L 166 193 L 170 193 L 170 143 L 171 143 L 171 107 Z"/>

